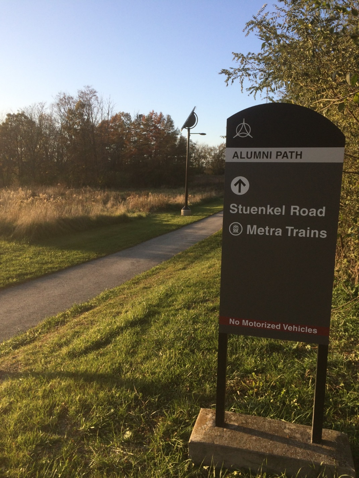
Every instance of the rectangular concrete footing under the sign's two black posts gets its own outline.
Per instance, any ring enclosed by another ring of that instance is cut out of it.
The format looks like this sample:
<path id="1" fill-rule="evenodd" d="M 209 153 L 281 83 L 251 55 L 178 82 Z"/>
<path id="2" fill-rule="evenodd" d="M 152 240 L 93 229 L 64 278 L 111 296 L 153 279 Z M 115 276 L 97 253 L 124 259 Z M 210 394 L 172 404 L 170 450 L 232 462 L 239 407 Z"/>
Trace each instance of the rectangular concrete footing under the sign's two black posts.
<path id="1" fill-rule="evenodd" d="M 312 444 L 311 427 L 279 420 L 225 413 L 225 427 L 215 426 L 215 410 L 202 408 L 189 443 L 197 465 L 212 463 L 252 473 L 288 477 L 355 478 L 347 435 L 323 430 L 320 445 Z"/>

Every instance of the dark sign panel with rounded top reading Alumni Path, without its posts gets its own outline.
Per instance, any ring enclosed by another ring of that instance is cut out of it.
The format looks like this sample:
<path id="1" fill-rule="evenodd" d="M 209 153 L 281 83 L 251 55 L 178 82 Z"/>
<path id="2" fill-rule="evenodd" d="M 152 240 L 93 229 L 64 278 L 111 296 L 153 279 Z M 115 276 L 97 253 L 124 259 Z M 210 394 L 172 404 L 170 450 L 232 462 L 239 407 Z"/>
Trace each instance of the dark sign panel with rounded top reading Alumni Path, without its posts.
<path id="1" fill-rule="evenodd" d="M 220 332 L 328 344 L 344 144 L 302 106 L 228 118 Z"/>

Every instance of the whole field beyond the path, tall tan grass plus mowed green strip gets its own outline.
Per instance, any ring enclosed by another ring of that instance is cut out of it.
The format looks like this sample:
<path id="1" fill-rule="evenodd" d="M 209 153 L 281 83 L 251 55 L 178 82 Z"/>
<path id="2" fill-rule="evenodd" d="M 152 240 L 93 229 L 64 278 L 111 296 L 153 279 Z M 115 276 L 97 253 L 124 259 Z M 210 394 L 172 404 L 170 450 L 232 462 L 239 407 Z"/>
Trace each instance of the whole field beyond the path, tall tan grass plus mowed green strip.
<path id="1" fill-rule="evenodd" d="M 30 189 L 2 190 L 0 223 L 7 226 L 0 228 L 0 288 L 118 252 L 223 205 L 220 188 L 193 192 L 191 216 L 181 216 L 184 198 L 178 191 L 55 191 L 43 189 L 34 197 Z"/>

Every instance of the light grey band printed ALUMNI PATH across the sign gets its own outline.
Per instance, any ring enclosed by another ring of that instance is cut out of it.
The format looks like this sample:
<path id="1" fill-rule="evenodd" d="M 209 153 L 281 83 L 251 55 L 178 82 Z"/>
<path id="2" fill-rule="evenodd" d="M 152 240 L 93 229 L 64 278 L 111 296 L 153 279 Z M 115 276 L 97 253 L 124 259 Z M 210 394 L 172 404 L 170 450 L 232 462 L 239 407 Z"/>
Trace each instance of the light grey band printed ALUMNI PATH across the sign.
<path id="1" fill-rule="evenodd" d="M 226 148 L 226 162 L 343 162 L 343 148 Z"/>

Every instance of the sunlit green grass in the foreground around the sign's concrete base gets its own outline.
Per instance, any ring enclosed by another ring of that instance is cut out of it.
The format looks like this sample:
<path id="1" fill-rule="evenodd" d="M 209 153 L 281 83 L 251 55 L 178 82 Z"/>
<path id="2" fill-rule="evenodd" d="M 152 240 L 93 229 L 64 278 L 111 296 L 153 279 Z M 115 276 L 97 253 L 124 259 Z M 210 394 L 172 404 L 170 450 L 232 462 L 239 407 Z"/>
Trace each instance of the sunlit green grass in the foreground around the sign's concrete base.
<path id="1" fill-rule="evenodd" d="M 220 261 L 218 233 L 1 345 L 0 476 L 249 477 L 187 455 L 215 407 Z M 358 313 L 336 286 L 324 426 L 357 466 Z M 315 369 L 316 345 L 230 336 L 227 410 L 311 425 Z"/>

